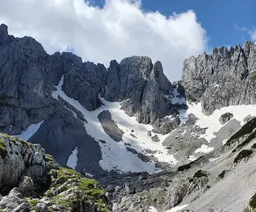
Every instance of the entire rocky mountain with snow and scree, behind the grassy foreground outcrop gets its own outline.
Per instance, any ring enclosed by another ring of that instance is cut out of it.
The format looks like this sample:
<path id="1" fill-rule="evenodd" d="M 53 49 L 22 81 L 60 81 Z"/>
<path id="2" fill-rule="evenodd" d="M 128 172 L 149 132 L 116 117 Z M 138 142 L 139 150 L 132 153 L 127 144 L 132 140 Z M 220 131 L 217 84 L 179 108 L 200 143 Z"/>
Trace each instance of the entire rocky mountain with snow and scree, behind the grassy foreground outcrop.
<path id="1" fill-rule="evenodd" d="M 170 83 L 148 57 L 106 68 L 2 24 L 0 132 L 98 180 L 113 211 L 254 211 L 255 62 L 252 42 L 215 48 Z"/>

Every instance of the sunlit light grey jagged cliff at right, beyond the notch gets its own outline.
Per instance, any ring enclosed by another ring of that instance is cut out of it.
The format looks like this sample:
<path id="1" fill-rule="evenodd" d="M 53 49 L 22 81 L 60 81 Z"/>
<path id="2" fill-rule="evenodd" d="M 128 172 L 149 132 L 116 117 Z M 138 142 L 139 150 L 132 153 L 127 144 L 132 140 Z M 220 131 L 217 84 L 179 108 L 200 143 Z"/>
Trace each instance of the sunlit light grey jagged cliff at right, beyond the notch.
<path id="1" fill-rule="evenodd" d="M 211 55 L 185 60 L 182 84 L 190 101 L 201 101 L 210 115 L 230 105 L 255 104 L 256 45 L 214 48 Z"/>

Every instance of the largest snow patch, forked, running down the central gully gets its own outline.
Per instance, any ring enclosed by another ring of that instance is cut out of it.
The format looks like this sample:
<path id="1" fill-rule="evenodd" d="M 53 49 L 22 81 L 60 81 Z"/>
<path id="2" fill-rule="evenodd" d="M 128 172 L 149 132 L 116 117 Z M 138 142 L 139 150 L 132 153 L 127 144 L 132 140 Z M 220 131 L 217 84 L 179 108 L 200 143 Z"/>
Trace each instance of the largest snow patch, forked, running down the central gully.
<path id="1" fill-rule="evenodd" d="M 155 167 L 154 162 L 143 162 L 137 155 L 130 153 L 126 150 L 125 143 L 129 143 L 133 149 L 136 149 L 139 153 L 145 153 L 145 149 L 157 150 L 156 154 L 153 154 L 160 162 L 169 162 L 170 164 L 176 164 L 173 155 L 168 154 L 168 150 L 161 145 L 162 141 L 165 140 L 166 136 L 157 135 L 161 142 L 155 143 L 151 141 L 148 136 L 148 131 L 152 130 L 151 125 L 138 123 L 135 117 L 130 117 L 126 115 L 124 110 L 120 110 L 120 102 L 107 102 L 101 99 L 104 106 L 94 111 L 86 110 L 79 102 L 73 98 L 68 97 L 64 91 L 61 90 L 64 81 L 64 76 L 62 76 L 60 83 L 55 86 L 57 90 L 52 92 L 52 97 L 58 99 L 58 96 L 62 97 L 70 105 L 74 106 L 77 110 L 82 112 L 84 118 L 88 123 L 84 122 L 86 132 L 88 135 L 95 138 L 96 141 L 104 140 L 106 143 L 103 144 L 99 142 L 102 152 L 102 160 L 99 162 L 99 166 L 106 171 L 111 171 L 113 169 L 121 172 L 141 172 L 147 171 L 148 173 L 156 173 L 161 171 Z M 113 120 L 116 121 L 117 126 L 125 132 L 122 136 L 123 142 L 113 141 L 102 128 L 99 123 L 98 115 L 103 110 L 109 110 L 113 116 Z M 130 136 L 130 130 L 133 129 L 135 132 L 134 138 Z M 156 135 L 152 133 L 152 136 Z"/>

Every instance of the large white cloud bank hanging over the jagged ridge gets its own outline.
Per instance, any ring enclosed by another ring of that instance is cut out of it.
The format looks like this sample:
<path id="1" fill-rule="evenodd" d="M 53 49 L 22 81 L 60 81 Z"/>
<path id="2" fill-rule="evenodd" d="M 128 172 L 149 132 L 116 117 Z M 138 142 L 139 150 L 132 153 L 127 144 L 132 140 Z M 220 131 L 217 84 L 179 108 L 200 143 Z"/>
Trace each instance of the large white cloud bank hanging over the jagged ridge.
<path id="1" fill-rule="evenodd" d="M 170 80 L 179 80 L 183 60 L 207 45 L 193 11 L 166 17 L 143 12 L 139 0 L 107 0 L 102 9 L 83 0 L 1 0 L 0 23 L 16 37 L 36 38 L 50 54 L 73 46 L 83 61 L 107 67 L 113 58 L 150 56 Z"/>

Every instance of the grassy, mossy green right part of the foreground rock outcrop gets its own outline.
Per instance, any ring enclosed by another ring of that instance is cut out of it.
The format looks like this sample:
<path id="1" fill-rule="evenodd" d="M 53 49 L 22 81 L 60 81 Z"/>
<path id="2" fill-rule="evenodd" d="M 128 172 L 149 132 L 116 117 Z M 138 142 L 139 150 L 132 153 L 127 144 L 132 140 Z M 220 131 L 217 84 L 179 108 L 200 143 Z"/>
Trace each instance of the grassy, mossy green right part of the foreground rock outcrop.
<path id="1" fill-rule="evenodd" d="M 55 174 L 56 179 L 45 193 L 51 201 L 63 206 L 65 210 L 76 211 L 81 204 L 90 206 L 91 200 L 93 200 L 100 211 L 109 211 L 108 206 L 106 206 L 104 191 L 97 181 L 86 179 L 68 167 L 60 167 L 60 169 L 55 170 Z M 72 190 L 76 196 L 67 199 L 64 193 L 68 190 Z"/>

